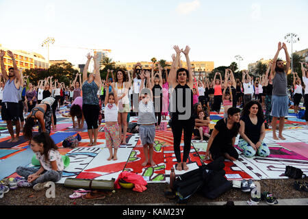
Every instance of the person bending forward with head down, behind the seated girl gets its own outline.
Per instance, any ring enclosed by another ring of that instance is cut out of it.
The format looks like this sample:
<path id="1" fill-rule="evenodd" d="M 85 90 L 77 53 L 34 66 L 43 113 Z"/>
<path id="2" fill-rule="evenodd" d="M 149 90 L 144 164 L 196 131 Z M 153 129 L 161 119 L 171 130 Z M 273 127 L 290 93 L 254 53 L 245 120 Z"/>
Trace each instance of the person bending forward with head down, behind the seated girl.
<path id="1" fill-rule="evenodd" d="M 53 97 L 47 97 L 31 110 L 30 114 L 27 116 L 25 126 L 23 127 L 23 135 L 25 138 L 31 140 L 32 129 L 34 125 L 36 125 L 36 120 L 38 120 L 38 133 L 50 133 L 51 125 L 53 126 L 53 130 L 55 130 L 53 112 L 51 109 L 51 105 L 53 105 L 54 101 L 55 99 Z"/>

